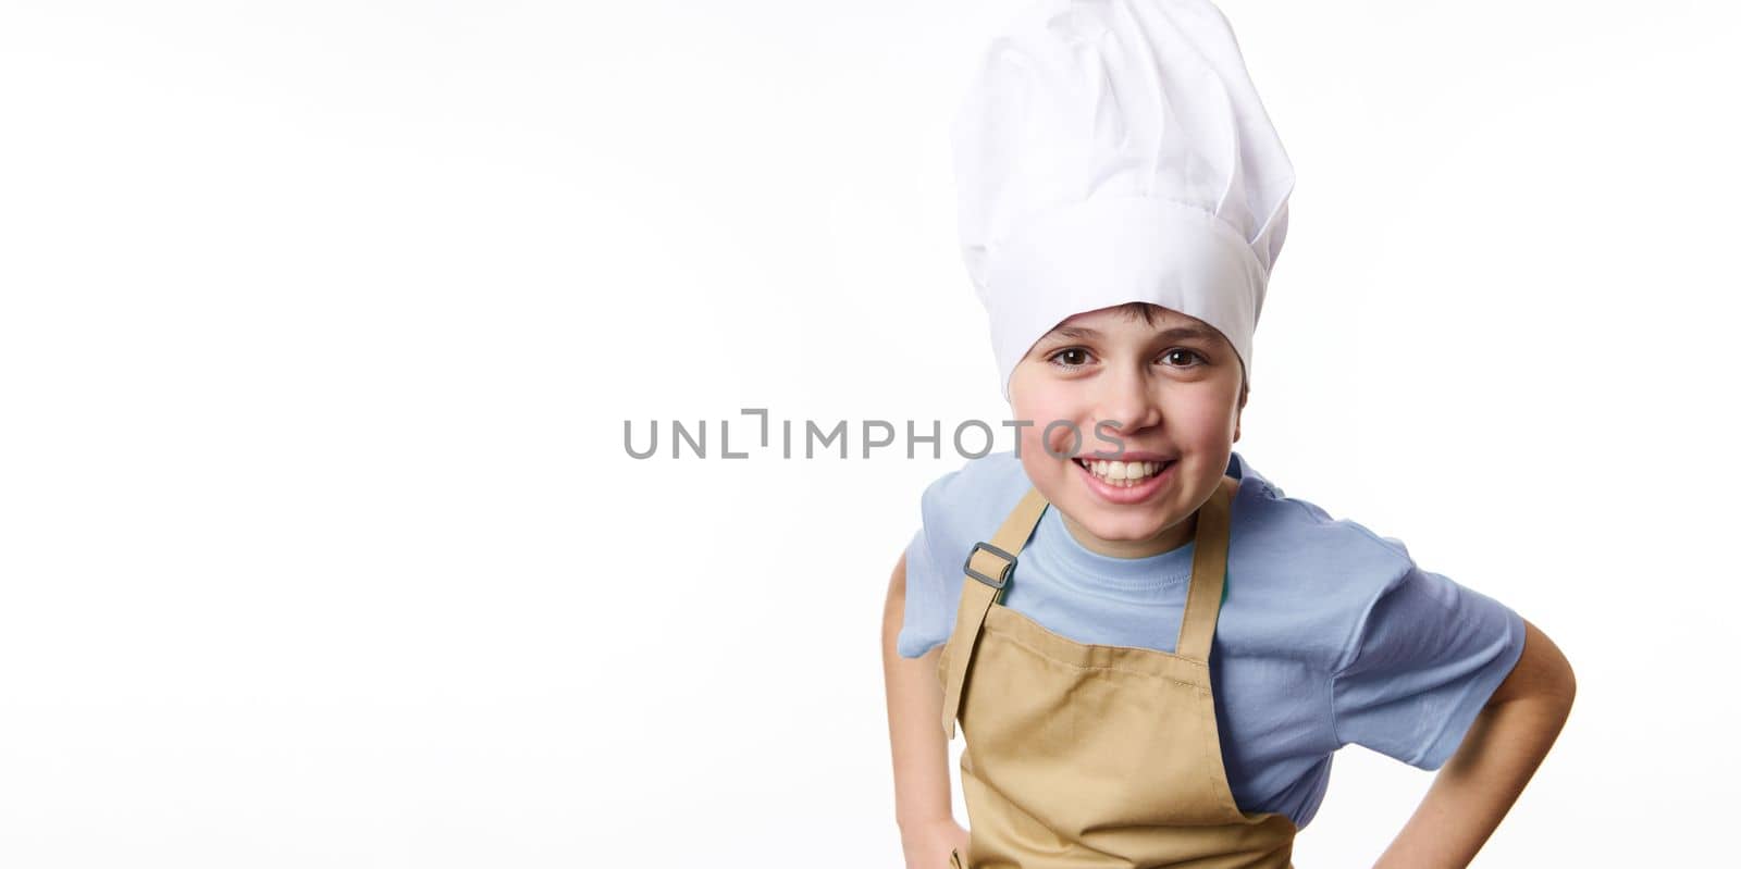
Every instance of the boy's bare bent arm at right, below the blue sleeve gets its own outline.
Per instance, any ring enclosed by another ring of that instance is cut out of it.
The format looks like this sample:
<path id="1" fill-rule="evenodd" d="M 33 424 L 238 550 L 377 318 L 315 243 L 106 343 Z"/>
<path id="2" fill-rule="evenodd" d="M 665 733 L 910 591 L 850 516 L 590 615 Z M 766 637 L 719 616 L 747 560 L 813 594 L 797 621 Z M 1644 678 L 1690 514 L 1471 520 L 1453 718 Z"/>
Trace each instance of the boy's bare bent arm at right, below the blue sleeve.
<path id="1" fill-rule="evenodd" d="M 1375 869 L 1469 866 L 1553 747 L 1576 693 L 1565 655 L 1523 620 L 1516 667 L 1469 724 Z"/>

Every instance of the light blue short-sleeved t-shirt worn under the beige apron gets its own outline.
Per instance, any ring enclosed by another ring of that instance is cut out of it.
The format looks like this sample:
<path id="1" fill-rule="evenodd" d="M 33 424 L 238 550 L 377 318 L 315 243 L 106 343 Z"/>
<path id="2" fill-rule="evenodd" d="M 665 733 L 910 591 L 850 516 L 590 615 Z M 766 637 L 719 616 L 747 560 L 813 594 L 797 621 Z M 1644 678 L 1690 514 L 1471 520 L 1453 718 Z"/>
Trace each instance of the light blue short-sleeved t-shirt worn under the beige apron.
<path id="1" fill-rule="evenodd" d="M 1240 453 L 1227 475 L 1240 491 L 1210 677 L 1240 810 L 1306 827 L 1332 752 L 1351 742 L 1440 768 L 1523 653 L 1523 618 L 1417 568 L 1400 540 L 1283 496 Z M 1027 488 L 1022 461 L 1005 451 L 924 489 L 923 528 L 907 547 L 902 657 L 949 637 L 961 562 Z M 1140 559 L 1092 552 L 1048 507 L 1003 604 L 1076 643 L 1173 651 L 1191 556 L 1191 543 Z"/>

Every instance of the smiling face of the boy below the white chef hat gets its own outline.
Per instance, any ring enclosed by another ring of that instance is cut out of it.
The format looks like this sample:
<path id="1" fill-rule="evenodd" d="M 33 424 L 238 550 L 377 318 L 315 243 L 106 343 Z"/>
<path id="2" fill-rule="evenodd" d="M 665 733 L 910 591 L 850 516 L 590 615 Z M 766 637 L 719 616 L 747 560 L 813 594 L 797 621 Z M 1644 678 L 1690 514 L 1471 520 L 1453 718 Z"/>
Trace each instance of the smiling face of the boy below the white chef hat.
<path id="1" fill-rule="evenodd" d="M 1071 535 L 1104 556 L 1144 557 L 1189 543 L 1196 509 L 1240 439 L 1243 367 L 1233 345 L 1196 317 L 1151 312 L 1153 326 L 1118 307 L 1078 313 L 1010 374 L 1012 411 L 1032 421 L 1017 430 L 1027 479 Z M 1142 461 L 1126 461 L 1126 479 L 1078 461 L 1118 456 Z"/>

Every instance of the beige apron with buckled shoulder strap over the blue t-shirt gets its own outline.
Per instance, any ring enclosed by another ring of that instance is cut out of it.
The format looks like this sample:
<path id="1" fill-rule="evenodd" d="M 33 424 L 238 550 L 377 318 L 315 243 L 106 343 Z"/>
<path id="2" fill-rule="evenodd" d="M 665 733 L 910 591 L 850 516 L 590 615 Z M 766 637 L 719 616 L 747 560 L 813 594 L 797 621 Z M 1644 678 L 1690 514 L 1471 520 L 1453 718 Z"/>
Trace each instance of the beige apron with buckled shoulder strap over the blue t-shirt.
<path id="1" fill-rule="evenodd" d="M 1177 653 L 1081 644 L 1001 596 L 1041 512 L 1029 488 L 975 543 L 944 643 L 944 731 L 966 744 L 966 853 L 956 869 L 1290 869 L 1294 822 L 1241 813 L 1227 789 L 1208 653 L 1240 482 L 1198 510 Z"/>

